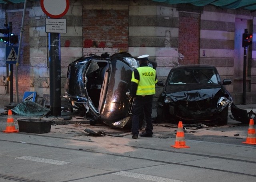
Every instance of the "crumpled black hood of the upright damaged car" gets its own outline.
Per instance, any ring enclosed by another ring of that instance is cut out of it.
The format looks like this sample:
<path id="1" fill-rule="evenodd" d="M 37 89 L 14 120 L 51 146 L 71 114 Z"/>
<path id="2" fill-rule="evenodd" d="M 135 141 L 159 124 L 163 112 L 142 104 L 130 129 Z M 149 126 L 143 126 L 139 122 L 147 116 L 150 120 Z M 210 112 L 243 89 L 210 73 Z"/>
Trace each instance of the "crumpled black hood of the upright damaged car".
<path id="1" fill-rule="evenodd" d="M 166 85 L 165 88 L 166 96 L 169 96 L 174 102 L 179 100 L 199 101 L 214 98 L 220 90 L 221 85 L 219 84 L 172 84 Z"/>

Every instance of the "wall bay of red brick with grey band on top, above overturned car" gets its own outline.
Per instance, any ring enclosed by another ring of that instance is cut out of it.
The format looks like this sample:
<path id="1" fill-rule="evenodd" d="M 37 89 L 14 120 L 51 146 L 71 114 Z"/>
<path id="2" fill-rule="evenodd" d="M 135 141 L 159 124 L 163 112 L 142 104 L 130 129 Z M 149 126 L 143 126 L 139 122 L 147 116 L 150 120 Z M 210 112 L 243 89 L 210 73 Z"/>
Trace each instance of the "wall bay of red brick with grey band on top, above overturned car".
<path id="1" fill-rule="evenodd" d="M 128 5 L 129 1 L 82 3 L 83 55 L 128 52 Z"/>

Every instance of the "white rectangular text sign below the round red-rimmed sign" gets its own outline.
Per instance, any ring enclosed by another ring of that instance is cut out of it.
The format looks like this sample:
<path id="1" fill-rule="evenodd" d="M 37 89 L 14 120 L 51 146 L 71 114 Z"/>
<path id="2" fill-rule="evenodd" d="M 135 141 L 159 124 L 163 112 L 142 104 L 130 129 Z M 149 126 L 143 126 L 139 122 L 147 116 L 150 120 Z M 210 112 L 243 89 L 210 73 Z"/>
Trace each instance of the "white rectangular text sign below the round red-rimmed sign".
<path id="1" fill-rule="evenodd" d="M 67 33 L 67 20 L 46 18 L 45 32 L 46 33 Z"/>

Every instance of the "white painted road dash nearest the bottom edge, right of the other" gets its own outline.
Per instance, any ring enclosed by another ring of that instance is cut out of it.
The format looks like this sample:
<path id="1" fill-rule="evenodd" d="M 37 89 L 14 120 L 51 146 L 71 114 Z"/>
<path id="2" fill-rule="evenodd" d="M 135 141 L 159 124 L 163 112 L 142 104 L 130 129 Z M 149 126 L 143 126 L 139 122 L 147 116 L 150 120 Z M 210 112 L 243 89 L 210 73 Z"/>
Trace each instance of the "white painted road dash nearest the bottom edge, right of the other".
<path id="1" fill-rule="evenodd" d="M 169 178 L 162 178 L 162 177 L 158 177 L 158 176 L 138 174 L 138 173 L 126 172 L 126 171 L 115 172 L 113 174 L 116 174 L 119 176 L 126 176 L 126 177 L 130 177 L 130 178 L 138 178 L 138 179 L 142 179 L 142 180 L 155 181 L 155 182 L 182 182 L 180 180 L 174 180 L 174 179 L 169 179 Z"/>

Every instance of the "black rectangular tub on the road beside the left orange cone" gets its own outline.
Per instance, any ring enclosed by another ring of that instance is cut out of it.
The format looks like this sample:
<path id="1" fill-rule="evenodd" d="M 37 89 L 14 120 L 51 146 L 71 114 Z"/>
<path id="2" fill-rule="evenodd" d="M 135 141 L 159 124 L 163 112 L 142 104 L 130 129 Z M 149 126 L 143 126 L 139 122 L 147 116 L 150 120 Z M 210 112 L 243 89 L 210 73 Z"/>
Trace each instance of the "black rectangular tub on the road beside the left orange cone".
<path id="1" fill-rule="evenodd" d="M 52 121 L 46 119 L 18 119 L 19 131 L 25 133 L 48 133 L 51 131 Z"/>

